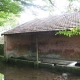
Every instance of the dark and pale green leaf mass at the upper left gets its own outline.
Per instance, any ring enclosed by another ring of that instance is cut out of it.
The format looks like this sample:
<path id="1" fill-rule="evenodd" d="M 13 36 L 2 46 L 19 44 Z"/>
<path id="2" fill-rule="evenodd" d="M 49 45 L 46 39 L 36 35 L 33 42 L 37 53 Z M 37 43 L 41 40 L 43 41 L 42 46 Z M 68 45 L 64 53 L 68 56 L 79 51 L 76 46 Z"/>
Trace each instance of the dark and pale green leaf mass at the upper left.
<path id="1" fill-rule="evenodd" d="M 23 8 L 19 2 L 13 0 L 0 0 L 0 26 L 9 22 L 10 17 L 17 17 L 21 11 L 23 11 Z M 14 20 L 14 18 L 12 20 Z"/>

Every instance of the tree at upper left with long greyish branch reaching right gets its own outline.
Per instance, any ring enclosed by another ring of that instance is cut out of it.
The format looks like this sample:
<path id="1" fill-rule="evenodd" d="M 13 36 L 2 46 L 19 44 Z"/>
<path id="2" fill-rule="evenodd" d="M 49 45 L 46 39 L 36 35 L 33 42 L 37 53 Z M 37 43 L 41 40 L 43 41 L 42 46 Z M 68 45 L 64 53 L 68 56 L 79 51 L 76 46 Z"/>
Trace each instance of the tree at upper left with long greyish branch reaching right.
<path id="1" fill-rule="evenodd" d="M 46 6 L 39 6 L 34 4 L 33 1 L 35 0 L 0 0 L 0 26 L 16 21 L 16 17 L 25 7 L 32 13 L 36 13 L 31 9 L 33 7 L 46 10 Z"/>

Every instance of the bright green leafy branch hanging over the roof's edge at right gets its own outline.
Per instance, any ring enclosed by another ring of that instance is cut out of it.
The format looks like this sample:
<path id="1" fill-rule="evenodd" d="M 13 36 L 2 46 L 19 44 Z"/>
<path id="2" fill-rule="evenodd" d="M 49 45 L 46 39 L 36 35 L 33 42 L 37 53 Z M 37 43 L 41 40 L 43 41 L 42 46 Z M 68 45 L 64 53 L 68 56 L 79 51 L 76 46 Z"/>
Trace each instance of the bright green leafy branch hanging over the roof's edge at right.
<path id="1" fill-rule="evenodd" d="M 60 30 L 55 35 L 58 35 L 58 34 L 65 35 L 68 37 L 71 37 L 73 35 L 80 35 L 80 28 L 76 26 L 75 28 L 71 28 L 69 30 Z"/>

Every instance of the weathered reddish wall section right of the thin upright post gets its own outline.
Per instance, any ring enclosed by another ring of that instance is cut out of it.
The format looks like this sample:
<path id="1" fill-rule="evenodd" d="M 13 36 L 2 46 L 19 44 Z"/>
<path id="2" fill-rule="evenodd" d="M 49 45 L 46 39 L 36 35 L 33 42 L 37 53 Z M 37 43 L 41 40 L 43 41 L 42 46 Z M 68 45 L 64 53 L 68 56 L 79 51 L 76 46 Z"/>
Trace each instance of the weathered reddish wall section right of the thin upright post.
<path id="1" fill-rule="evenodd" d="M 42 54 L 54 53 L 54 56 L 51 55 L 52 58 L 79 59 L 80 36 L 66 37 L 46 35 L 45 38 L 43 36 L 39 43 L 39 52 Z"/>

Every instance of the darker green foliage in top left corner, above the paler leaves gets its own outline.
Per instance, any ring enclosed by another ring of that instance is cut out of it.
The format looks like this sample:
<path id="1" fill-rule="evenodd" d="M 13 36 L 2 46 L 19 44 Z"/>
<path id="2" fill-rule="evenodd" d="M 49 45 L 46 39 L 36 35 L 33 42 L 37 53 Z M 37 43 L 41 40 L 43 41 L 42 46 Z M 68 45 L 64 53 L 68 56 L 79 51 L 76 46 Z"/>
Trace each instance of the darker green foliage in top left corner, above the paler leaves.
<path id="1" fill-rule="evenodd" d="M 0 0 L 0 11 L 5 13 L 17 14 L 22 11 L 21 6 L 18 2 L 12 0 Z"/>

